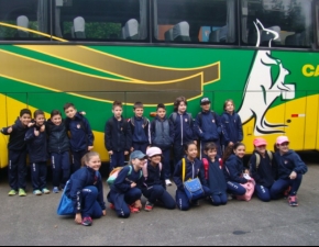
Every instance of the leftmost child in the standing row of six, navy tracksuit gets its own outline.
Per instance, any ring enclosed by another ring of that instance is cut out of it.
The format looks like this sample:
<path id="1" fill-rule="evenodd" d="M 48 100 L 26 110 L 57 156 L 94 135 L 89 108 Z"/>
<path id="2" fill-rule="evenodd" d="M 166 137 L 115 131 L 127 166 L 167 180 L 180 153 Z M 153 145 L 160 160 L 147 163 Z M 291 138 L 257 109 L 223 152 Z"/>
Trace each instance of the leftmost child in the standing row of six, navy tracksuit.
<path id="1" fill-rule="evenodd" d="M 124 166 L 125 155 L 129 155 L 132 146 L 132 133 L 130 124 L 123 119 L 122 103 L 113 102 L 113 116 L 109 119 L 105 127 L 105 145 L 110 155 L 110 170 Z"/>

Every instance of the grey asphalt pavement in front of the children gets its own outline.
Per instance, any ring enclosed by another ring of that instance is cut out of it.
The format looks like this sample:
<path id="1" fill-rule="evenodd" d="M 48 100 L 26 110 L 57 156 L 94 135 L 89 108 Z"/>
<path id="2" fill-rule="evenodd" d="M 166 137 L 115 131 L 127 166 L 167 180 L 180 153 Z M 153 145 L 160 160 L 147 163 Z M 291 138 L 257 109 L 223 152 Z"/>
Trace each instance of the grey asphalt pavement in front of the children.
<path id="1" fill-rule="evenodd" d="M 73 217 L 58 216 L 61 193 L 36 197 L 29 181 L 28 197 L 8 197 L 4 170 L 0 170 L 1 246 L 96 246 L 96 245 L 319 245 L 319 154 L 301 154 L 309 171 L 298 193 L 299 206 L 287 200 L 250 202 L 231 200 L 224 206 L 201 201 L 187 212 L 154 207 L 129 218 L 107 216 L 90 227 L 76 225 Z M 106 179 L 105 179 L 106 180 Z M 48 182 L 52 189 L 51 182 Z M 168 188 L 175 195 L 176 187 Z M 105 195 L 109 189 L 105 183 Z M 142 198 L 145 203 L 145 199 Z M 107 203 L 109 206 L 109 203 Z"/>

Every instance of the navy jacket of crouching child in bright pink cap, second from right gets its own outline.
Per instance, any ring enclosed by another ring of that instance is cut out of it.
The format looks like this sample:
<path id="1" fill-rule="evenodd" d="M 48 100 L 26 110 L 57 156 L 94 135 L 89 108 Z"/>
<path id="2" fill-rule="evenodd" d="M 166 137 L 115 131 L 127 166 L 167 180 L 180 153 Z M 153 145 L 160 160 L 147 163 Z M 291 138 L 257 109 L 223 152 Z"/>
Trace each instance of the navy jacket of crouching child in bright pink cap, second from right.
<path id="1" fill-rule="evenodd" d="M 256 155 L 261 157 L 258 168 L 256 167 Z M 274 158 L 271 160 L 267 151 L 263 157 L 255 150 L 250 159 L 250 172 L 257 184 L 271 188 L 277 179 L 276 161 Z"/>

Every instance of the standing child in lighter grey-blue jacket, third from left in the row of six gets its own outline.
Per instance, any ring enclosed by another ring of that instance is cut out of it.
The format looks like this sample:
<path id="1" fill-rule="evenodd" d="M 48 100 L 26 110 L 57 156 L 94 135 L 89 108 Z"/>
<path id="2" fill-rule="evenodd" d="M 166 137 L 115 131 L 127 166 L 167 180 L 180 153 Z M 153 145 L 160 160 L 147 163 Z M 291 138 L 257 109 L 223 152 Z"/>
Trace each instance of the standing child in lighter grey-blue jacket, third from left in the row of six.
<path id="1" fill-rule="evenodd" d="M 166 119 L 165 105 L 160 103 L 156 116 L 151 123 L 152 146 L 157 146 L 163 151 L 163 167 L 166 186 L 172 186 L 170 178 L 170 148 L 174 143 L 174 126 Z"/>

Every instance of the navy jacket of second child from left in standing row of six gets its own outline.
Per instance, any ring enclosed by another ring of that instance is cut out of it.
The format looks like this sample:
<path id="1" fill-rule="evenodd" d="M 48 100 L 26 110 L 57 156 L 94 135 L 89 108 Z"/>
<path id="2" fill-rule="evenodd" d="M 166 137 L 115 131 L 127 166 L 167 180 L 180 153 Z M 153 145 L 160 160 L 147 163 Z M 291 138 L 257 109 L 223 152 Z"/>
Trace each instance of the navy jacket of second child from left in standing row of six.
<path id="1" fill-rule="evenodd" d="M 150 121 L 146 120 L 146 124 L 144 123 L 145 119 L 133 116 L 134 124 L 132 120 L 129 120 L 131 131 L 132 131 L 132 143 L 145 144 L 147 143 L 151 145 L 151 126 Z"/>

